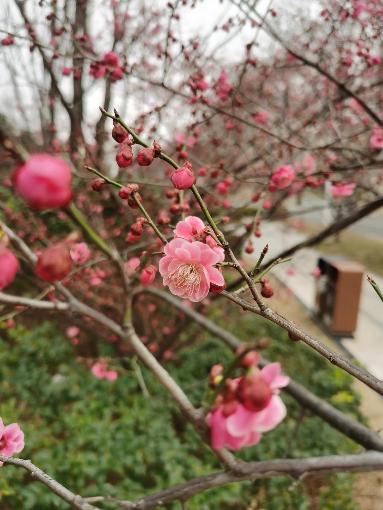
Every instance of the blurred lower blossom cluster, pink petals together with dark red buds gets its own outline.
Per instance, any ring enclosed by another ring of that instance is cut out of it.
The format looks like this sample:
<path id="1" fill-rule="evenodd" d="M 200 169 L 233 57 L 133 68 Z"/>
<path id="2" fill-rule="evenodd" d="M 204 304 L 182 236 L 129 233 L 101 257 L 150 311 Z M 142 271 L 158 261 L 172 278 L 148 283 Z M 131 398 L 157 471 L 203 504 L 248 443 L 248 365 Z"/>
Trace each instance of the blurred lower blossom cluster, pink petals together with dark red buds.
<path id="1" fill-rule="evenodd" d="M 259 370 L 257 361 L 255 356 L 242 377 L 225 381 L 225 391 L 217 396 L 207 415 L 214 450 L 224 446 L 231 450 L 253 446 L 259 443 L 262 433 L 275 428 L 286 416 L 286 407 L 278 393 L 279 388 L 289 384 L 289 377 L 280 374 L 279 363 Z"/>

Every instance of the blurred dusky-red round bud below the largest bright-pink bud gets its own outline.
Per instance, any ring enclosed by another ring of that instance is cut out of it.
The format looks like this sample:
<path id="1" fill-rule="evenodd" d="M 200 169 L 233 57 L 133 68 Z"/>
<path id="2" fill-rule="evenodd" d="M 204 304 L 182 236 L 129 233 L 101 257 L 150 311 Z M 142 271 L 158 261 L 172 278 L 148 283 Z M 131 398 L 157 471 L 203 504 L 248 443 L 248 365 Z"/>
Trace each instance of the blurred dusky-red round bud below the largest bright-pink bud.
<path id="1" fill-rule="evenodd" d="M 50 283 L 64 279 L 73 266 L 68 246 L 63 243 L 46 248 L 37 259 L 36 273 Z"/>

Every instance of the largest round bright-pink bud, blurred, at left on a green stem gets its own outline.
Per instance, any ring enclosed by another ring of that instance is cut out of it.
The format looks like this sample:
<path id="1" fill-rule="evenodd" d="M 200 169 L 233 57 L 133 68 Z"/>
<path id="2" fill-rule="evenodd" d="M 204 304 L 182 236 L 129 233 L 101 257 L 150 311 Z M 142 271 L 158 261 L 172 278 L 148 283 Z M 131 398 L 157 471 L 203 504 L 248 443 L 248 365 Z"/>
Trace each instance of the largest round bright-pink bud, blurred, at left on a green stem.
<path id="1" fill-rule="evenodd" d="M 71 180 L 69 166 L 46 154 L 31 156 L 12 176 L 20 195 L 38 210 L 67 207 L 72 197 Z"/>

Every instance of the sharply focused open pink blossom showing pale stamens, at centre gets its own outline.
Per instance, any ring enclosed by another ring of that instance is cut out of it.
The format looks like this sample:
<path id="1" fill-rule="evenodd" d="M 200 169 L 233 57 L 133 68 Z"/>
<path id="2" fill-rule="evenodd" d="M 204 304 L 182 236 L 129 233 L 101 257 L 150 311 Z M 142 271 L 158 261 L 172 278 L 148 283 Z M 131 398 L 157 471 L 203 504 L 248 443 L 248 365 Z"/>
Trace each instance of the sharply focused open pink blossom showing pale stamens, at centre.
<path id="1" fill-rule="evenodd" d="M 220 260 L 207 244 L 184 239 L 173 239 L 164 247 L 165 256 L 159 262 L 163 285 L 172 294 L 190 301 L 201 301 L 207 296 L 210 283 L 224 285 L 220 271 L 214 267 Z"/>

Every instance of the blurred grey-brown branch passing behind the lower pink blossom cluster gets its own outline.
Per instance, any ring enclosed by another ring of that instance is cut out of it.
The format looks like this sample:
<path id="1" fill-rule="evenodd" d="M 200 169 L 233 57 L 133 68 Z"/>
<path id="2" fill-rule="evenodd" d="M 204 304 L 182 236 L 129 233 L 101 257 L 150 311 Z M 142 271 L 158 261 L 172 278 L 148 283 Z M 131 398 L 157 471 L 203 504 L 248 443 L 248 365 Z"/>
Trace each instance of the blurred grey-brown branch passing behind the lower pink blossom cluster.
<path id="1" fill-rule="evenodd" d="M 153 294 L 161 300 L 171 303 L 173 307 L 180 310 L 197 324 L 203 326 L 212 335 L 223 340 L 223 342 L 225 342 L 225 344 L 233 351 L 244 345 L 244 342 L 241 342 L 240 339 L 230 333 L 227 329 L 219 326 L 218 324 L 214 324 L 214 322 L 199 314 L 195 310 L 184 307 L 181 299 L 173 296 L 169 292 L 165 292 L 154 287 L 145 287 L 141 289 L 140 292 Z M 269 361 L 261 359 L 260 366 L 264 367 L 269 363 Z M 376 432 L 362 423 L 358 423 L 341 411 L 338 411 L 338 409 L 335 409 L 335 407 L 331 404 L 308 391 L 298 382 L 290 379 L 289 385 L 286 388 L 283 388 L 283 391 L 297 400 L 302 407 L 310 410 L 313 414 L 322 418 L 324 421 L 329 423 L 329 425 L 342 432 L 345 436 L 364 446 L 367 450 L 383 451 L 383 439 Z"/>

